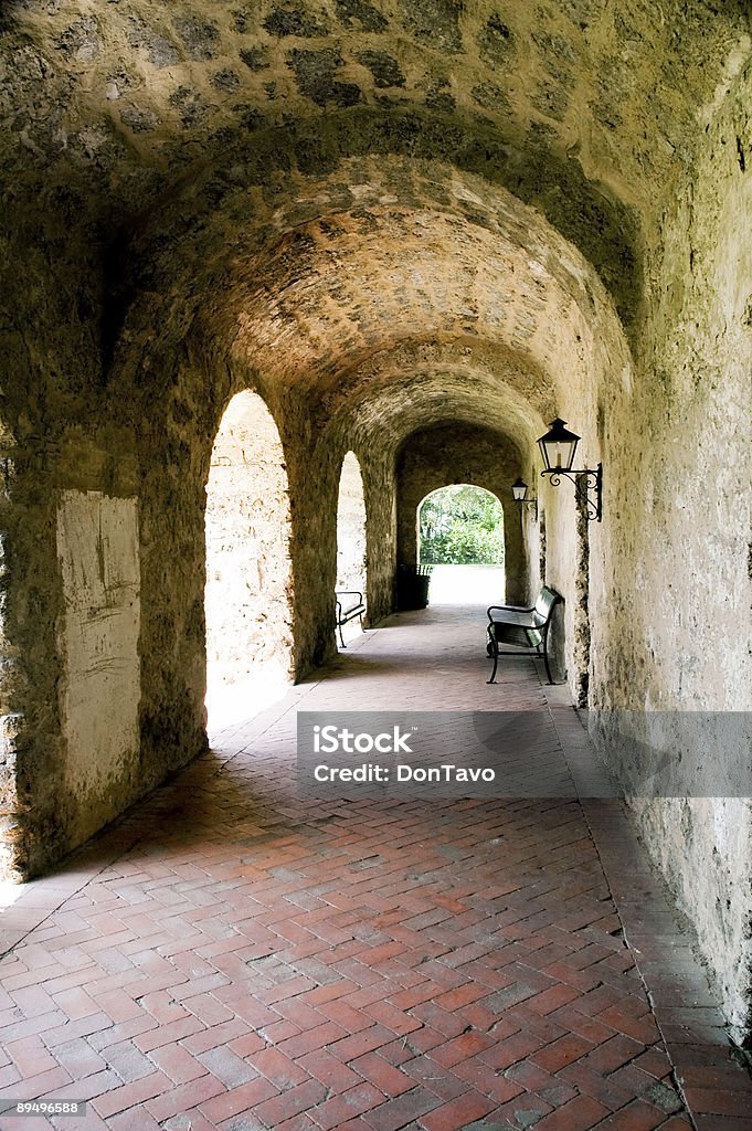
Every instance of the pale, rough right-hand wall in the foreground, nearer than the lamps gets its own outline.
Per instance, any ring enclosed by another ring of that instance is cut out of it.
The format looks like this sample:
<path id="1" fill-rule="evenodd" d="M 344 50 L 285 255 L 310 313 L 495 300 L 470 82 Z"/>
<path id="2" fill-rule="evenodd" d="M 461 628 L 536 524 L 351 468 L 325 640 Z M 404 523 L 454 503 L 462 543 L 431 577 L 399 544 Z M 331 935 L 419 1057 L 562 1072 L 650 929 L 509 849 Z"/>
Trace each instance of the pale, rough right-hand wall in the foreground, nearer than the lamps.
<path id="1" fill-rule="evenodd" d="M 596 596 L 606 615 L 591 623 L 593 705 L 607 757 L 619 758 L 616 732 L 629 725 L 655 767 L 666 756 L 674 767 L 715 762 L 712 793 L 724 791 L 728 751 L 707 742 L 702 713 L 749 713 L 752 687 L 752 247 L 742 234 L 752 224 L 749 71 L 728 86 L 700 114 L 693 173 L 651 233 L 650 307 L 633 383 L 602 392 L 613 486 Z M 656 713 L 652 722 L 643 711 Z M 743 1036 L 750 803 L 698 796 L 691 775 L 676 786 L 626 766 L 622 774 L 645 844 L 698 931 Z M 742 793 L 750 792 L 747 774 Z"/>

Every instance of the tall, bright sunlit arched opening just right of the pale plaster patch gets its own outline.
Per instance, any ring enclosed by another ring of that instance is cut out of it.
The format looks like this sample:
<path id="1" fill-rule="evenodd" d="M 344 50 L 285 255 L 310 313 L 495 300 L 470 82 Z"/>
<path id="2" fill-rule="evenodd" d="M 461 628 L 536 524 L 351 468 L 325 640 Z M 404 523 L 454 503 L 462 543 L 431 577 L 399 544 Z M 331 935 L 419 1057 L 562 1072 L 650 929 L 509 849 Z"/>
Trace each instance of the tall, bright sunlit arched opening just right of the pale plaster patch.
<path id="1" fill-rule="evenodd" d="M 249 717 L 292 676 L 291 513 L 277 425 L 256 392 L 230 402 L 206 485 L 209 728 Z"/>

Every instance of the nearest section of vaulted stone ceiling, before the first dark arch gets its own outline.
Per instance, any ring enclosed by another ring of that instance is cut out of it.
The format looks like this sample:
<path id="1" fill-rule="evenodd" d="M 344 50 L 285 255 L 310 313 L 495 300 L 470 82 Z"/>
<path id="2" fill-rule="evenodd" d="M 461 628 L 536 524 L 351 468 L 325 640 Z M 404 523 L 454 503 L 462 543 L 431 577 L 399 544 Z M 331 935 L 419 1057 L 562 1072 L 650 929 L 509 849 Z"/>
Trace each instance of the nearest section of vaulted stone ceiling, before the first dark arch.
<path id="1" fill-rule="evenodd" d="M 253 135 L 357 110 L 493 138 L 522 196 L 585 178 L 645 209 L 691 159 L 745 7 L 7 0 L 3 148 L 20 196 L 75 185 L 111 224 L 202 165 L 232 175 Z"/>

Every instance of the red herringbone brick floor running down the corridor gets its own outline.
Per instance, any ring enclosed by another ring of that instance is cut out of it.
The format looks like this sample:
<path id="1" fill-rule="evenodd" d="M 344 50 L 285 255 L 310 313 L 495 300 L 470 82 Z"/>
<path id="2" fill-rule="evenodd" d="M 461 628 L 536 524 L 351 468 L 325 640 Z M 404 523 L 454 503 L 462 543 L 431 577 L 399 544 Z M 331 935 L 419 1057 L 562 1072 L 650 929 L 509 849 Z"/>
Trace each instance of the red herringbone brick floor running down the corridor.
<path id="1" fill-rule="evenodd" d="M 366 633 L 27 886 L 0 1102 L 88 1107 L 2 1131 L 752 1129 L 689 938 L 619 802 L 587 800 L 576 713 L 527 659 L 486 687 L 482 621 Z M 537 713 L 522 761 L 565 795 L 296 795 L 296 709 L 397 707 Z"/>

